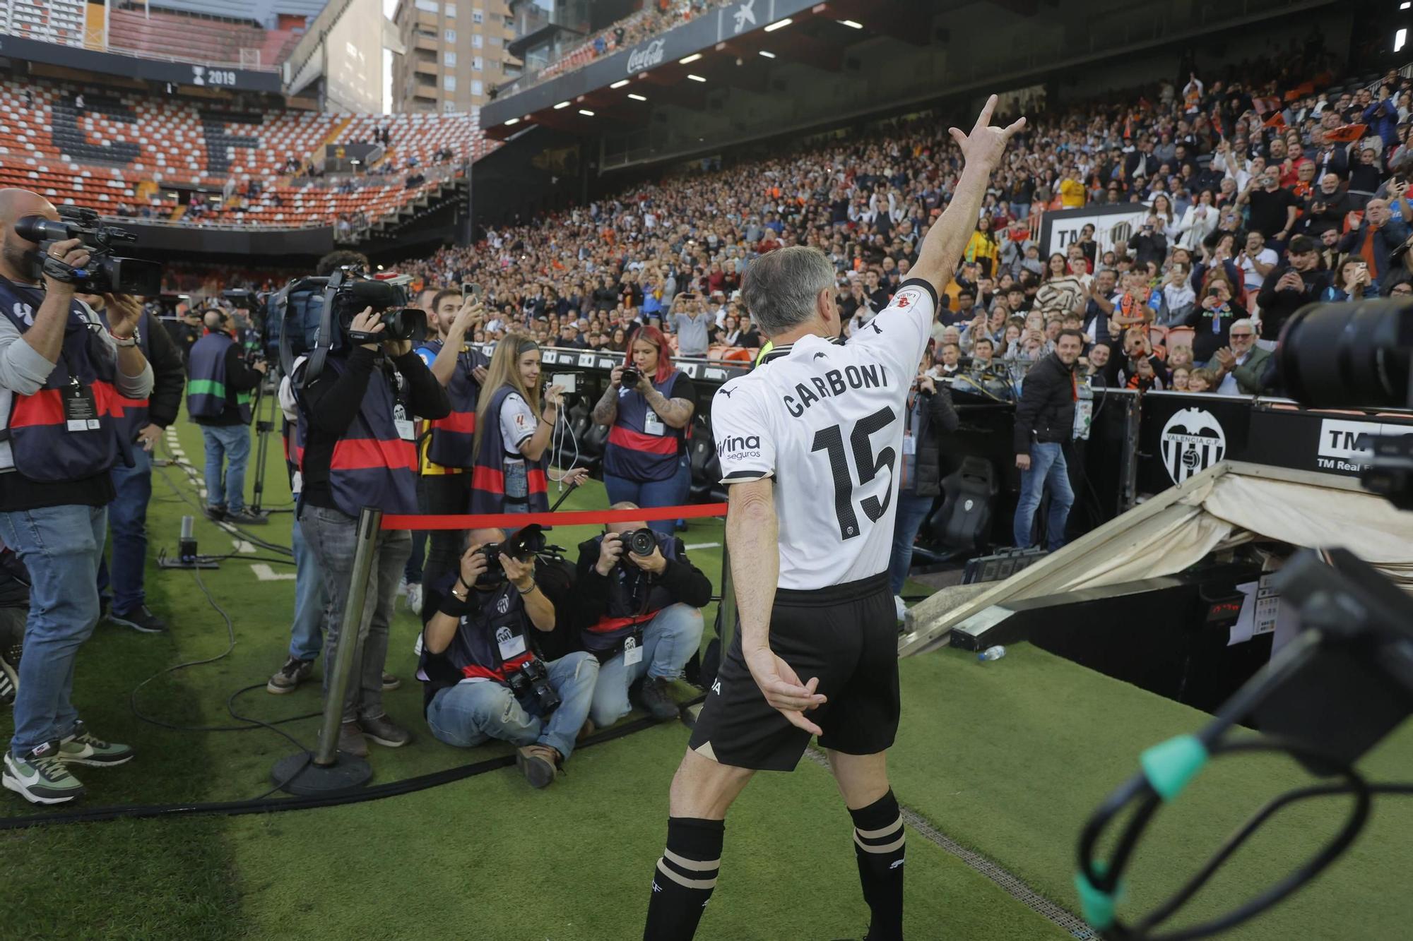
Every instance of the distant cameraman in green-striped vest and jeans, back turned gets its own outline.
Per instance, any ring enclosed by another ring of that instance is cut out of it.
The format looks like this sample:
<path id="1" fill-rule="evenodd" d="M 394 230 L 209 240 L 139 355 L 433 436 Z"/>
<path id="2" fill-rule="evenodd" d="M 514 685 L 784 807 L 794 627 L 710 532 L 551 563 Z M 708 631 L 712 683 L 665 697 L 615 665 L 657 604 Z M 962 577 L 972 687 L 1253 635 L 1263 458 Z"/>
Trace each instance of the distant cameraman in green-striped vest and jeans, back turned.
<path id="1" fill-rule="evenodd" d="M 206 439 L 206 516 L 243 526 L 268 520 L 246 510 L 246 463 L 250 461 L 250 390 L 268 366 L 247 366 L 236 343 L 229 314 L 212 308 L 205 315 L 206 333 L 191 348 L 187 372 L 187 411 Z M 222 479 L 220 465 L 226 472 Z"/>

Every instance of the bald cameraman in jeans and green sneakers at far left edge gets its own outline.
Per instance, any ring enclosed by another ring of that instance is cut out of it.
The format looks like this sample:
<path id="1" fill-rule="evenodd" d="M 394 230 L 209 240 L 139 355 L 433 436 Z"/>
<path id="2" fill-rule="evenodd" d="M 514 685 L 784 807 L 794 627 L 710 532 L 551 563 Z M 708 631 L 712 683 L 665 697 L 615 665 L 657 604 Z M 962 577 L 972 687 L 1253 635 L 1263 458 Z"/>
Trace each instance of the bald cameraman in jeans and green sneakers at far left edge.
<path id="1" fill-rule="evenodd" d="M 82 268 L 78 239 L 48 249 L 14 230 L 24 216 L 58 220 L 38 194 L 0 189 L 0 389 L 10 406 L 0 421 L 0 540 L 32 576 L 24 657 L 14 701 L 14 738 L 4 754 L 4 787 L 31 804 L 83 795 L 66 764 L 106 767 L 133 749 L 88 732 L 72 705 L 73 661 L 99 617 L 97 562 L 103 554 L 109 469 L 127 449 L 107 406 L 116 391 L 144 398 L 153 369 L 136 333 L 141 307 L 109 295 L 109 329 L 75 302 L 55 261 Z"/>

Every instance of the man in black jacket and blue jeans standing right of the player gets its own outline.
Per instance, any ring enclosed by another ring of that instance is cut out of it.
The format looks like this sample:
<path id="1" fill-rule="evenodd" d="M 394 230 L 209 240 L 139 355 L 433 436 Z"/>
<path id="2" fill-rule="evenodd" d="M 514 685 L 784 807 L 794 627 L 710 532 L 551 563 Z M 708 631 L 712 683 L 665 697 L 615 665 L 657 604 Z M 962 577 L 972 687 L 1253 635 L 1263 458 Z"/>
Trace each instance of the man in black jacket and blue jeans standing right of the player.
<path id="1" fill-rule="evenodd" d="M 1050 550 L 1064 545 L 1064 524 L 1074 503 L 1064 444 L 1074 437 L 1077 398 L 1074 366 L 1084 349 L 1084 333 L 1060 331 L 1056 352 L 1026 373 L 1026 383 L 1016 406 L 1016 466 L 1020 468 L 1020 503 L 1016 506 L 1016 545 L 1033 543 L 1031 528 L 1041 489 L 1050 492 L 1050 516 L 1046 521 Z"/>

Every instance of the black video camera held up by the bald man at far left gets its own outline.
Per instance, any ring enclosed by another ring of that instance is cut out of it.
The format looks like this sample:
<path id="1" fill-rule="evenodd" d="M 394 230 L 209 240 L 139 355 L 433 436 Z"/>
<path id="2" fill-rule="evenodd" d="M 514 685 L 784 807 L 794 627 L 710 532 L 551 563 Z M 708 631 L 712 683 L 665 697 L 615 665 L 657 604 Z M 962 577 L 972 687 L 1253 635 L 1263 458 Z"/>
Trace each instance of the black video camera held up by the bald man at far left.
<path id="1" fill-rule="evenodd" d="M 59 206 L 59 219 L 44 216 L 23 216 L 14 223 L 14 232 L 21 239 L 35 242 L 40 250 L 34 253 L 34 280 L 44 276 L 55 281 L 72 284 L 81 294 L 161 294 L 162 266 L 141 259 L 120 259 L 113 254 L 117 242 L 137 242 L 127 229 L 105 226 L 97 222 L 97 212 L 81 206 Z M 82 268 L 73 268 L 49 254 L 57 242 L 81 239 L 82 250 L 89 260 Z"/>

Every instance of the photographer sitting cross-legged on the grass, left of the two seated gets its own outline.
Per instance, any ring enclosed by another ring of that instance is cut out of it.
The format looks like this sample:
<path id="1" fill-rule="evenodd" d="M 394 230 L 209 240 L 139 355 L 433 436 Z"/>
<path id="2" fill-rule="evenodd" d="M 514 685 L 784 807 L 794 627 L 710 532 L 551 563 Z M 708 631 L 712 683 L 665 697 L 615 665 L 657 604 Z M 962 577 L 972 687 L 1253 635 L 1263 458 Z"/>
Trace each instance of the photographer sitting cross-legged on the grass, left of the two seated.
<path id="1" fill-rule="evenodd" d="M 574 752 L 599 661 L 582 650 L 550 663 L 540 658 L 536 633 L 554 630 L 554 603 L 536 582 L 534 558 L 520 561 L 500 552 L 504 581 L 486 576 L 489 562 L 480 550 L 504 538 L 502 530 L 468 534 L 456 582 L 422 629 L 417 675 L 427 684 L 427 725 L 437 740 L 456 747 L 489 739 L 510 742 L 516 767 L 540 788 L 554 781 Z M 521 684 L 528 678 L 527 665 L 537 670 L 530 664 L 544 668 L 538 684 Z M 513 680 L 521 691 L 512 688 Z M 545 685 L 560 699 L 557 706 L 543 702 Z"/>

